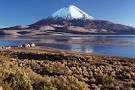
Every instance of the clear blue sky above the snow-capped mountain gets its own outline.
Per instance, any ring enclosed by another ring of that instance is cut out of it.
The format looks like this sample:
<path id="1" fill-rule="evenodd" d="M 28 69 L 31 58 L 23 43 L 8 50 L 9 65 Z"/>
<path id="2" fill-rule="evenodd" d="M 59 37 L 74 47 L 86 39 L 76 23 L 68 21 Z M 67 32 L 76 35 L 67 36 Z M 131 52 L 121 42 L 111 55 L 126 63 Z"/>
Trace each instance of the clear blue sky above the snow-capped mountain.
<path id="1" fill-rule="evenodd" d="M 135 27 L 135 0 L 0 0 L 0 27 L 32 24 L 70 4 L 96 19 Z"/>

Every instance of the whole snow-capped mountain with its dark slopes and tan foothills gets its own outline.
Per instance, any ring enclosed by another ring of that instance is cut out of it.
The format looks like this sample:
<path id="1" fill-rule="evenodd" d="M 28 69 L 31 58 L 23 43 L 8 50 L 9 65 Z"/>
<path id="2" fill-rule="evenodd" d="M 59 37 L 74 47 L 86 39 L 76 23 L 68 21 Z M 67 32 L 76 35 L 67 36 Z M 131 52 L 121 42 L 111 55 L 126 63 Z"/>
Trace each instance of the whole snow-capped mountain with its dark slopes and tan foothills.
<path id="1" fill-rule="evenodd" d="M 50 17 L 31 25 L 1 28 L 1 35 L 50 35 L 50 34 L 135 34 L 135 28 L 96 20 L 78 7 L 70 5 Z"/>

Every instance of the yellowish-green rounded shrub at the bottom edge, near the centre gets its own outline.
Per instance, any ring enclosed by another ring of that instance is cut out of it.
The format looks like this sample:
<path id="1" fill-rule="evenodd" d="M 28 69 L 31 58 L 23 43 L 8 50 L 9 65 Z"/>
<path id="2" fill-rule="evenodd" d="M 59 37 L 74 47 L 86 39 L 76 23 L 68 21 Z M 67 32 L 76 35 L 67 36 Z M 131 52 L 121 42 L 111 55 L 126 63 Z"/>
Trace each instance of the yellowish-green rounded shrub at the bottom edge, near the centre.
<path id="1" fill-rule="evenodd" d="M 74 76 L 54 78 L 52 83 L 55 83 L 55 87 L 58 90 L 88 90 L 87 85 L 84 82 L 78 81 Z"/>

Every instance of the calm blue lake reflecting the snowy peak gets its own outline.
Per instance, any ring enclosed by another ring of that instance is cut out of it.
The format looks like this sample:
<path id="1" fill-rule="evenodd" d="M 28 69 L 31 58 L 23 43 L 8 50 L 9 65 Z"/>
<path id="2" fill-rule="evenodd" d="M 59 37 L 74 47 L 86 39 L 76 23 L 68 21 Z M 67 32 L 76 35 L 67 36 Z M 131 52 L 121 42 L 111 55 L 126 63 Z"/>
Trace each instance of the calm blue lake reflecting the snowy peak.
<path id="1" fill-rule="evenodd" d="M 135 58 L 134 35 L 57 35 L 57 36 L 1 36 L 0 46 L 36 43 L 41 47 L 92 53 L 97 55 Z"/>

